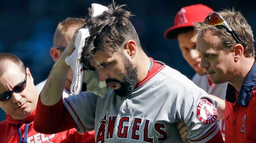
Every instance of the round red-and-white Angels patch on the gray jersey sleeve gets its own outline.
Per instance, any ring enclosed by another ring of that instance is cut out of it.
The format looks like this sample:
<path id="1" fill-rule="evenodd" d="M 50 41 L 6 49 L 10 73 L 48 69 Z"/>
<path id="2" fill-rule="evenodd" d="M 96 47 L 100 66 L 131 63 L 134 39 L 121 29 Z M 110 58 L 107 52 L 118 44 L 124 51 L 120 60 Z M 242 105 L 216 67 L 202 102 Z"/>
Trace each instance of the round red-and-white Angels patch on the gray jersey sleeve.
<path id="1" fill-rule="evenodd" d="M 202 99 L 196 107 L 196 118 L 201 123 L 211 124 L 217 120 L 217 110 L 208 100 Z"/>

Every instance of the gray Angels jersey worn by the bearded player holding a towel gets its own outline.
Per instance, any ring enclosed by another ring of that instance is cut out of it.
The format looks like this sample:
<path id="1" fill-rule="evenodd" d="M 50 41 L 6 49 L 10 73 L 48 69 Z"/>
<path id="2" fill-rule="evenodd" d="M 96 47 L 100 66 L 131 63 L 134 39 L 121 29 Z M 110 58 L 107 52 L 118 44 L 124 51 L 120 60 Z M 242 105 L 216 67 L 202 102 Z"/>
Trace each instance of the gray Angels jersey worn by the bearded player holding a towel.
<path id="1" fill-rule="evenodd" d="M 111 90 L 105 98 L 82 92 L 64 99 L 77 131 L 95 130 L 96 142 L 182 143 L 176 122 L 189 128 L 190 142 L 206 142 L 219 131 L 217 101 L 180 72 L 163 67 L 130 97 Z"/>

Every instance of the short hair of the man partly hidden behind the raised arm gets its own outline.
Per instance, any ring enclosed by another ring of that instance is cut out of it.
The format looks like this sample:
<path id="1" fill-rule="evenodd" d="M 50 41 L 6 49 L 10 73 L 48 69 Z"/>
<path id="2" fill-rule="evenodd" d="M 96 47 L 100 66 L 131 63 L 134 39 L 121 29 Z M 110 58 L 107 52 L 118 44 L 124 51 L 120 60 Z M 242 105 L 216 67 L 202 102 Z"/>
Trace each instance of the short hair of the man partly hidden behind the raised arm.
<path id="1" fill-rule="evenodd" d="M 85 23 L 85 19 L 82 18 L 67 18 L 64 21 L 60 22 L 56 28 L 53 38 L 53 45 L 60 46 L 65 42 L 65 37 L 68 29 L 71 26 L 80 26 Z"/>

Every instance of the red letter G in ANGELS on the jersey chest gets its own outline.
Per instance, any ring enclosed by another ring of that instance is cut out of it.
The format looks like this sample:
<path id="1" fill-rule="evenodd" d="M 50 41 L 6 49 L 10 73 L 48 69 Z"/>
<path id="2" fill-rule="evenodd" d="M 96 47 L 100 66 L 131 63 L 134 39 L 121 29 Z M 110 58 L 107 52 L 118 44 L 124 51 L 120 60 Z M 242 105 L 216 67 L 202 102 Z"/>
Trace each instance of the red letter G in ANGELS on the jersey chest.
<path id="1" fill-rule="evenodd" d="M 124 122 L 129 123 L 129 119 L 130 119 L 130 117 L 121 117 L 120 118 L 120 122 L 119 122 L 119 126 L 118 126 L 118 133 L 117 133 L 117 136 L 119 138 L 127 138 L 129 126 L 124 125 Z"/>

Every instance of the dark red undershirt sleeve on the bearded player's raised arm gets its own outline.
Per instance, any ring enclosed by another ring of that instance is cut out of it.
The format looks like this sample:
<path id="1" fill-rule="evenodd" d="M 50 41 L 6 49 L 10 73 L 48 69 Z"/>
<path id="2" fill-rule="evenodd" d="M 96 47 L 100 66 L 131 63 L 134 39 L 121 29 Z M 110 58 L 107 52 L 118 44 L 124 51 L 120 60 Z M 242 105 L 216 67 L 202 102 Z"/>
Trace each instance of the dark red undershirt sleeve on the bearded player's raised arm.
<path id="1" fill-rule="evenodd" d="M 74 119 L 63 104 L 61 99 L 53 106 L 45 106 L 39 99 L 34 118 L 34 129 L 44 134 L 59 133 L 77 127 Z"/>

